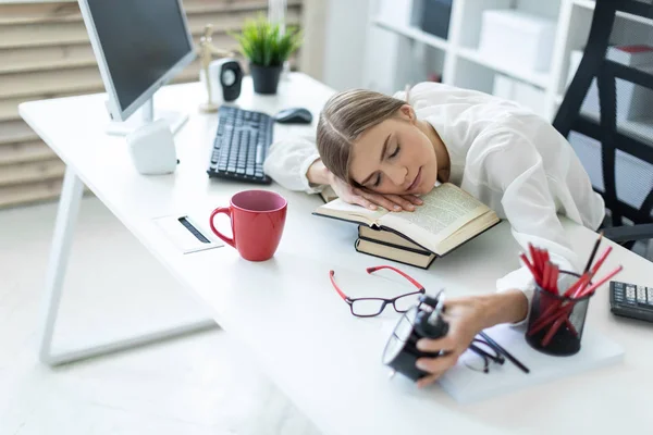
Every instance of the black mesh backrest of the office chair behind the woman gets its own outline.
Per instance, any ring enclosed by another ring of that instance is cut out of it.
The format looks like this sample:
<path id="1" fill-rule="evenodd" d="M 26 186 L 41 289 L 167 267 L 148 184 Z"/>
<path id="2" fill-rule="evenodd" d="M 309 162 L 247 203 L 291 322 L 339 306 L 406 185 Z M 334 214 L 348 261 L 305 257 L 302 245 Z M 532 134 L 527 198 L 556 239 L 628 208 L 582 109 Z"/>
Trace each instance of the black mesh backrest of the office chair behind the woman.
<path id="1" fill-rule="evenodd" d="M 553 122 L 584 147 L 581 160 L 596 175 L 613 225 L 621 217 L 653 222 L 653 51 L 644 48 L 653 47 L 651 3 L 596 0 L 582 60 Z"/>

